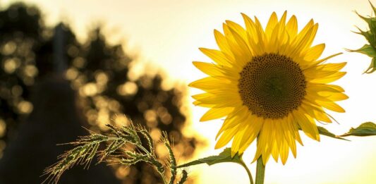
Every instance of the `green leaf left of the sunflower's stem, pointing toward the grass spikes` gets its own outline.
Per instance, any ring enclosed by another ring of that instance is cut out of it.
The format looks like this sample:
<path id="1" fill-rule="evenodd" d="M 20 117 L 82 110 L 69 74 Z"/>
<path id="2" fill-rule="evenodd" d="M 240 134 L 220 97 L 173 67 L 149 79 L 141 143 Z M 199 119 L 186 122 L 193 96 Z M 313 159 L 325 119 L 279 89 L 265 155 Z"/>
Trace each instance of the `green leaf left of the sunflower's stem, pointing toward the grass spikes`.
<path id="1" fill-rule="evenodd" d="M 187 167 L 187 166 L 194 166 L 197 164 L 207 164 L 207 165 L 212 165 L 212 164 L 218 164 L 222 162 L 234 162 L 237 164 L 241 164 L 241 157 L 238 154 L 235 154 L 234 157 L 231 157 L 231 148 L 227 147 L 226 149 L 223 150 L 222 153 L 216 155 L 216 156 L 210 156 L 210 157 L 205 157 L 202 159 L 198 159 L 195 161 L 190 161 L 187 164 L 183 164 L 180 166 L 177 166 L 177 168 L 182 168 L 182 167 Z"/>

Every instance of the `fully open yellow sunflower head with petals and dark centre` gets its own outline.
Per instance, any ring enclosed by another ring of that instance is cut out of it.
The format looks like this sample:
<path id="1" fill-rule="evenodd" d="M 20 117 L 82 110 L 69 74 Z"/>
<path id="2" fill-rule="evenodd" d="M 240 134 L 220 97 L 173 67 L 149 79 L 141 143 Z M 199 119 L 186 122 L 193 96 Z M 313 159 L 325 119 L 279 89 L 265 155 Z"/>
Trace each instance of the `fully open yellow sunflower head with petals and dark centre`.
<path id="1" fill-rule="evenodd" d="M 219 50 L 200 48 L 215 63 L 194 61 L 209 75 L 190 83 L 205 91 L 193 95 L 193 104 L 210 108 L 200 121 L 226 117 L 215 148 L 232 140 L 231 154 L 243 154 L 257 137 L 254 161 L 270 155 L 285 164 L 289 150 L 296 157 L 298 130 L 320 141 L 316 121 L 331 123 L 325 109 L 344 112 L 336 101 L 347 99 L 344 89 L 328 84 L 346 73 L 346 63 L 319 59 L 325 44 L 312 46 L 318 24 L 310 20 L 298 32 L 296 16 L 286 23 L 272 13 L 265 30 L 260 21 L 242 13 L 245 28 L 226 20 L 224 35 L 214 30 Z"/>

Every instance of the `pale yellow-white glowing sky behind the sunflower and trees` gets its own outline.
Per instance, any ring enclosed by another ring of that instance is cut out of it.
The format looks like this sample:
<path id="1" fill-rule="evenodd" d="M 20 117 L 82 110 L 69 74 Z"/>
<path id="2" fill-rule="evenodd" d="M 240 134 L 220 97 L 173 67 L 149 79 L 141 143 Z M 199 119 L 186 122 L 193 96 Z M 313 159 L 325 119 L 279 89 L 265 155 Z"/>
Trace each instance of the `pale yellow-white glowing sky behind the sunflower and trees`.
<path id="1" fill-rule="evenodd" d="M 341 85 L 350 97 L 339 102 L 345 114 L 330 113 L 339 124 L 325 125 L 336 133 L 346 133 L 366 121 L 376 121 L 376 73 L 363 74 L 370 58 L 362 54 L 349 53 L 345 49 L 358 49 L 366 44 L 365 39 L 354 34 L 355 25 L 365 29 L 366 24 L 356 16 L 370 15 L 372 8 L 366 0 L 313 0 L 313 1 L 198 1 L 198 0 L 25 0 L 42 9 L 47 25 L 60 20 L 68 22 L 80 40 L 85 32 L 95 25 L 104 25 L 104 34 L 111 42 L 123 42 L 127 51 L 138 54 L 140 63 L 151 63 L 162 68 L 171 81 L 192 82 L 205 75 L 192 65 L 192 61 L 210 61 L 200 53 L 198 47 L 217 49 L 213 30 L 221 30 L 225 20 L 241 25 L 241 13 L 257 16 L 266 25 L 270 14 L 275 11 L 280 17 L 284 11 L 288 16 L 296 15 L 299 29 L 313 18 L 319 23 L 314 44 L 325 43 L 322 58 L 344 52 L 330 62 L 347 61 L 343 69 L 347 74 L 334 82 Z M 0 6 L 13 1 L 0 0 Z M 376 1 L 372 1 L 376 4 Z M 144 70 L 142 65 L 136 70 Z M 158 70 L 158 69 L 154 69 Z M 190 90 L 190 94 L 198 94 Z M 193 102 L 193 99 L 189 99 Z M 195 157 L 217 154 L 214 138 L 222 120 L 200 123 L 205 108 L 190 105 L 192 125 L 187 133 L 204 137 L 209 145 Z M 351 142 L 322 137 L 320 142 L 303 137 L 304 146 L 298 147 L 298 156 L 290 154 L 286 165 L 270 160 L 267 163 L 265 183 L 375 183 L 376 182 L 376 137 L 350 137 Z M 255 177 L 255 163 L 250 164 L 255 153 L 251 145 L 243 158 Z M 200 183 L 248 183 L 241 166 L 217 164 L 189 168 L 191 178 Z M 200 177 L 199 177 L 200 176 Z"/>

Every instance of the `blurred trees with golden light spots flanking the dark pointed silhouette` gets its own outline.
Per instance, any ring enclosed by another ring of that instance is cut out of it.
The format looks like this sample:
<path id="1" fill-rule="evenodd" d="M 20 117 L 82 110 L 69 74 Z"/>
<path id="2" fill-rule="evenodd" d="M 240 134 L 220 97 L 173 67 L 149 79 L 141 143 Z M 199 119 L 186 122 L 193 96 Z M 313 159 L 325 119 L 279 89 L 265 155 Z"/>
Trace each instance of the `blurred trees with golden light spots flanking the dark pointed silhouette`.
<path id="1" fill-rule="evenodd" d="M 121 125 L 131 118 L 134 123 L 150 128 L 153 136 L 166 131 L 174 139 L 179 157 L 190 157 L 198 142 L 181 133 L 186 122 L 181 110 L 186 89 L 164 89 L 161 75 L 145 73 L 131 80 L 128 71 L 134 59 L 123 51 L 121 44 L 108 44 L 100 28 L 90 32 L 87 42 L 82 44 L 68 26 L 63 27 L 63 51 L 68 66 L 64 75 L 79 94 L 79 113 L 87 122 L 83 125 L 90 130 L 107 131 L 104 125 L 110 120 Z M 53 37 L 54 30 L 44 26 L 40 11 L 35 7 L 18 3 L 0 11 L 1 150 L 17 137 L 19 124 L 28 114 L 39 108 L 33 104 L 35 101 L 30 102 L 30 92 L 35 83 L 43 83 L 54 75 Z M 156 146 L 158 150 L 159 145 Z M 163 149 L 159 157 L 166 157 Z M 123 183 L 158 183 L 160 180 L 147 164 L 116 168 L 116 176 Z"/>

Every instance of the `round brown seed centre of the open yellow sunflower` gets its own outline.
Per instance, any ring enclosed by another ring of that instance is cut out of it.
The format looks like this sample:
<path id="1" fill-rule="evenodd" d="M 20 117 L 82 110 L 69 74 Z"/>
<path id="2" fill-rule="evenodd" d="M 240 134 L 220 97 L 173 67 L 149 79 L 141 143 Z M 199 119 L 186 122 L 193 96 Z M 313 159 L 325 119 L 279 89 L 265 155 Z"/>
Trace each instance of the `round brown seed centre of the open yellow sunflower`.
<path id="1" fill-rule="evenodd" d="M 279 54 L 253 57 L 241 71 L 238 91 L 243 104 L 262 118 L 284 118 L 301 105 L 305 77 L 298 63 Z"/>

